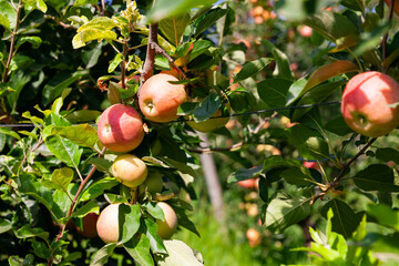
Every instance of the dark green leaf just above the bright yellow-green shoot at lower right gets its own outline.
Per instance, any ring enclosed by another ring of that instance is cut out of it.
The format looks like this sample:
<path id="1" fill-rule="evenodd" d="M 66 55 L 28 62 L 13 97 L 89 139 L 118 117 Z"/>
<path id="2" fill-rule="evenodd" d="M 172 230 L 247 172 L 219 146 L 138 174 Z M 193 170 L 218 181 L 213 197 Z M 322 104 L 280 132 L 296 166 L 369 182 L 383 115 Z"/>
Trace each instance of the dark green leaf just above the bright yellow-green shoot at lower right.
<path id="1" fill-rule="evenodd" d="M 332 231 L 344 235 L 345 238 L 349 238 L 360 223 L 358 216 L 348 204 L 338 198 L 334 198 L 323 206 L 320 213 L 324 217 L 327 216 L 329 208 L 334 213 L 331 218 Z"/>

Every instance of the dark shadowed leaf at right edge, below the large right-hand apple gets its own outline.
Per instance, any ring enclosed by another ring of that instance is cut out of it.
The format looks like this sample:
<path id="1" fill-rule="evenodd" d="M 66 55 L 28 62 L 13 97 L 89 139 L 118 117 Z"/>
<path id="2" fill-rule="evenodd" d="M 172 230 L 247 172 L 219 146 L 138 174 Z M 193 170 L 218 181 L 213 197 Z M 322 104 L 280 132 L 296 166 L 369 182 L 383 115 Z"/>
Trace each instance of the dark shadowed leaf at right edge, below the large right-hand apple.
<path id="1" fill-rule="evenodd" d="M 393 171 L 386 164 L 371 164 L 354 176 L 355 185 L 364 191 L 398 192 Z"/>

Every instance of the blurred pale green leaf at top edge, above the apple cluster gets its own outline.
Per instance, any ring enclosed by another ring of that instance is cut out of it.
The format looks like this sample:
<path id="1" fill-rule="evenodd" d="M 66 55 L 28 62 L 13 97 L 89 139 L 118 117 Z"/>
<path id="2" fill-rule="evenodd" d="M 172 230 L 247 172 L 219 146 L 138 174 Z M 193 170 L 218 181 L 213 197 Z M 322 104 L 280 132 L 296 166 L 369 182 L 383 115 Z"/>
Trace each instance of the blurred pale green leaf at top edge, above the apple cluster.
<path id="1" fill-rule="evenodd" d="M 207 7 L 216 0 L 158 0 L 149 14 L 150 21 L 156 22 L 165 18 L 176 17 L 198 7 Z"/>

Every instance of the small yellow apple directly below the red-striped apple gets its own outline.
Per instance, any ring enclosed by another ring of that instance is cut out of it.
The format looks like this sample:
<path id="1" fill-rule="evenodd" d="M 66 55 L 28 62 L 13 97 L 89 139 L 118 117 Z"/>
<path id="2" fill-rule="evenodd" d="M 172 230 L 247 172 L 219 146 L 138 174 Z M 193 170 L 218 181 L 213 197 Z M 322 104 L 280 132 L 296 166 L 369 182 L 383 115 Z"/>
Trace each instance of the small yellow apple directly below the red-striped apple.
<path id="1" fill-rule="evenodd" d="M 133 154 L 119 155 L 111 167 L 112 175 L 129 187 L 141 185 L 147 176 L 145 163 Z"/>

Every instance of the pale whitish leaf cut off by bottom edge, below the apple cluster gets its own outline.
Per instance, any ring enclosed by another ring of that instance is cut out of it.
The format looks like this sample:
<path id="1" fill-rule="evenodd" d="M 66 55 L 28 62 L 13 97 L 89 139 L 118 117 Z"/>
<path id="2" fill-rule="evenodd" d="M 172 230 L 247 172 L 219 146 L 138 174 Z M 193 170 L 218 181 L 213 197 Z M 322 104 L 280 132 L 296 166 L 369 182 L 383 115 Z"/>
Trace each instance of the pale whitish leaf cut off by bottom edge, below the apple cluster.
<path id="1" fill-rule="evenodd" d="M 156 257 L 156 264 L 158 266 L 203 266 L 204 264 L 195 256 L 194 250 L 185 243 L 173 239 L 164 241 L 168 256 Z"/>

